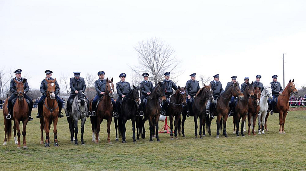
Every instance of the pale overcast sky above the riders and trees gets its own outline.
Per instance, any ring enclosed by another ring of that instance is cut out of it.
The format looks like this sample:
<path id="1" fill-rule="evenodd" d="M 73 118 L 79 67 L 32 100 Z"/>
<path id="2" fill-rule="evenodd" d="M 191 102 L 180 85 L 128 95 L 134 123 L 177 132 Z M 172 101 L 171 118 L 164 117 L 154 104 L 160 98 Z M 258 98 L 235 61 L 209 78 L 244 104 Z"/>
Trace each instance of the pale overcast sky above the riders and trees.
<path id="1" fill-rule="evenodd" d="M 190 74 L 220 74 L 223 88 L 238 76 L 272 75 L 306 86 L 306 1 L 5 1 L 0 0 L 0 68 L 22 69 L 31 88 L 53 77 L 105 71 L 119 81 L 137 64 L 134 47 L 158 38 Z M 303 50 L 304 49 L 304 50 Z"/>

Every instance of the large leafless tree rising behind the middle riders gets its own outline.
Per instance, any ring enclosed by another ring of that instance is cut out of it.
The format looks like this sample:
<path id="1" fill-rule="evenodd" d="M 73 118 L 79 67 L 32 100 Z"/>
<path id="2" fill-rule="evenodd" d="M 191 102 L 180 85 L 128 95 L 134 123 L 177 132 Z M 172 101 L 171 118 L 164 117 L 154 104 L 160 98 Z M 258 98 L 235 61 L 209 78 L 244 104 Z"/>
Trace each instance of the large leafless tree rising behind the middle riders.
<path id="1" fill-rule="evenodd" d="M 156 38 L 139 42 L 135 50 L 139 65 L 130 68 L 137 74 L 148 72 L 151 75 L 149 79 L 155 84 L 162 80 L 166 71 L 173 72 L 180 64 L 174 56 L 174 49 Z"/>

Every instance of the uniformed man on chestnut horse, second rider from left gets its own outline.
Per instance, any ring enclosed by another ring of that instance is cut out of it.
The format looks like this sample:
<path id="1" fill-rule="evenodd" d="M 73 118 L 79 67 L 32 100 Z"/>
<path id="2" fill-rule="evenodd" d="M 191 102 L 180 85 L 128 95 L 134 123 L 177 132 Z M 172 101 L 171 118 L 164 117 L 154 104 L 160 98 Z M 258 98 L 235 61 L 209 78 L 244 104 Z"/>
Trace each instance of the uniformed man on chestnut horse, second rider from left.
<path id="1" fill-rule="evenodd" d="M 46 78 L 48 80 L 54 80 L 51 76 L 52 76 L 52 71 L 50 70 L 46 70 L 45 71 L 46 73 Z M 37 116 L 36 118 L 40 118 L 41 117 L 41 113 L 42 113 L 42 108 L 43 108 L 43 104 L 42 104 L 42 101 L 46 98 L 47 96 L 47 90 L 48 90 L 48 83 L 45 79 L 43 79 L 41 81 L 41 84 L 40 84 L 40 93 L 42 93 L 42 96 L 40 97 L 39 101 L 38 101 L 38 113 L 37 113 Z M 60 93 L 60 86 L 59 84 L 57 83 L 57 81 L 55 81 L 55 97 L 57 99 L 57 102 L 58 102 L 58 105 L 59 105 L 59 118 L 62 118 L 64 117 L 63 114 L 61 113 L 62 111 L 62 106 L 63 106 L 63 101 L 60 99 L 60 97 L 58 96 L 58 94 Z"/>

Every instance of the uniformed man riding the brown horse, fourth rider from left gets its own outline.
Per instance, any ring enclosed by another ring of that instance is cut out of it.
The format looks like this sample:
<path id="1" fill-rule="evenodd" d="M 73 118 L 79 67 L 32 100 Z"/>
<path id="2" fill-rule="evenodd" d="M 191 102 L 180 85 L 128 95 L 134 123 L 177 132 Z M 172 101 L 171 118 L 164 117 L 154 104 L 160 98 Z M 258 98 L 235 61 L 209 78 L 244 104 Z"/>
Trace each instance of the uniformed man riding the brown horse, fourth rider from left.
<path id="1" fill-rule="evenodd" d="M 97 107 L 97 102 L 98 100 L 104 96 L 104 92 L 105 92 L 105 85 L 107 84 L 106 82 L 106 79 L 104 79 L 104 75 L 105 75 L 105 72 L 104 71 L 99 71 L 98 72 L 98 76 L 99 76 L 99 79 L 97 79 L 95 82 L 94 82 L 94 88 L 97 92 L 96 96 L 94 97 L 93 101 L 92 101 L 92 113 L 91 113 L 91 116 L 96 116 L 96 107 Z M 111 98 L 111 101 L 112 101 L 112 104 L 113 106 L 115 107 L 115 101 L 113 98 Z"/>

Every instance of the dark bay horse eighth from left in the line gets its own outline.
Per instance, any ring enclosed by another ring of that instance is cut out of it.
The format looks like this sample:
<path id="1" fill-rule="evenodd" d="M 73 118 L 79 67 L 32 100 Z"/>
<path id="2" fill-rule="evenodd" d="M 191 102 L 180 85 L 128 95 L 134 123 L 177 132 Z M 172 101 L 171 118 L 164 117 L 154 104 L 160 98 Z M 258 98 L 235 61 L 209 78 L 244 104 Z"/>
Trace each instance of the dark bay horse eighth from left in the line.
<path id="1" fill-rule="evenodd" d="M 194 135 L 195 135 L 195 138 L 197 138 L 197 129 L 198 129 L 198 123 L 197 123 L 197 119 L 198 117 L 200 118 L 200 130 L 199 130 L 199 135 L 200 135 L 200 138 L 203 138 L 203 136 L 205 136 L 205 120 L 208 121 L 207 123 L 207 129 L 208 129 L 208 133 L 209 135 L 211 135 L 211 132 L 210 132 L 210 117 L 209 116 L 205 116 L 206 115 L 206 104 L 208 102 L 208 100 L 211 101 L 211 104 L 213 103 L 214 101 L 214 98 L 213 98 L 213 93 L 212 93 L 212 89 L 210 86 L 204 86 L 202 87 L 197 93 L 196 95 L 194 96 L 194 99 L 193 99 L 193 103 L 192 103 L 192 112 L 191 112 L 191 115 L 194 116 L 194 129 L 195 129 L 195 132 L 194 132 Z M 185 137 L 185 133 L 184 133 L 184 125 L 185 125 L 185 120 L 186 120 L 186 111 L 183 111 L 182 113 L 182 116 L 183 116 L 183 119 L 182 119 L 182 134 L 183 134 L 183 137 Z M 203 131 L 202 131 L 203 129 Z M 203 134 L 202 134 L 203 132 Z"/>

